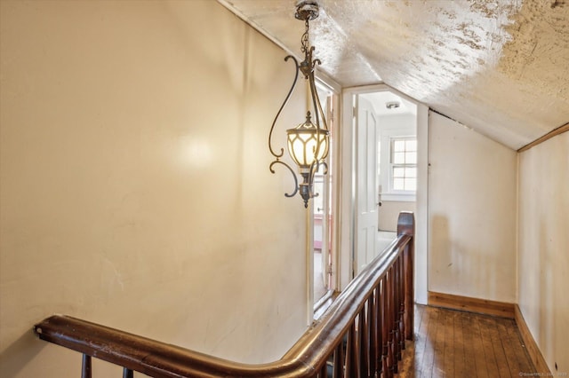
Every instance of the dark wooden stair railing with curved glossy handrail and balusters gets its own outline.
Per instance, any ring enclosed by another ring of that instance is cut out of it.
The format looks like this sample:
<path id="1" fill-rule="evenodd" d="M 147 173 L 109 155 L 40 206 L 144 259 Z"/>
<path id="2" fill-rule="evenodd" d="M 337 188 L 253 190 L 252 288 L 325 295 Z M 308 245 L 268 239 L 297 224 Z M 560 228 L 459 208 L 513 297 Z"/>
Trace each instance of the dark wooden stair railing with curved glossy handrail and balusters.
<path id="1" fill-rule="evenodd" d="M 284 357 L 242 364 L 157 342 L 82 319 L 54 315 L 36 324 L 40 339 L 153 377 L 389 377 L 405 339 L 413 340 L 413 213 L 401 213 L 397 239 L 352 280 Z"/>

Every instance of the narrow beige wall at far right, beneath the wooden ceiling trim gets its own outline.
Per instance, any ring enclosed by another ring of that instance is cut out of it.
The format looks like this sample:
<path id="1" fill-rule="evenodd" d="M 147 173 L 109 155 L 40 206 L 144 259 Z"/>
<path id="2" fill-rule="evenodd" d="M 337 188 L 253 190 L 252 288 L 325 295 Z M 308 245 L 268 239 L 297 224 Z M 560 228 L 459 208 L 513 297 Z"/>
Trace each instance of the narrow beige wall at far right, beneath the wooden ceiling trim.
<path id="1" fill-rule="evenodd" d="M 519 172 L 519 307 L 549 370 L 566 373 L 569 132 L 519 154 Z"/>

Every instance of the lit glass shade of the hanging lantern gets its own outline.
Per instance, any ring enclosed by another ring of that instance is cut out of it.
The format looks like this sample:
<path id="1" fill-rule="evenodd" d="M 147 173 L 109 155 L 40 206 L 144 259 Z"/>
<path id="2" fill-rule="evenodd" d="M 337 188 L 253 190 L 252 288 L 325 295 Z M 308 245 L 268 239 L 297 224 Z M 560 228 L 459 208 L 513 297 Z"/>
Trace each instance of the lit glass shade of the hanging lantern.
<path id="1" fill-rule="evenodd" d="M 328 155 L 328 130 L 317 128 L 309 114 L 306 122 L 286 130 L 286 135 L 288 152 L 301 169 L 309 169 L 315 160 Z"/>

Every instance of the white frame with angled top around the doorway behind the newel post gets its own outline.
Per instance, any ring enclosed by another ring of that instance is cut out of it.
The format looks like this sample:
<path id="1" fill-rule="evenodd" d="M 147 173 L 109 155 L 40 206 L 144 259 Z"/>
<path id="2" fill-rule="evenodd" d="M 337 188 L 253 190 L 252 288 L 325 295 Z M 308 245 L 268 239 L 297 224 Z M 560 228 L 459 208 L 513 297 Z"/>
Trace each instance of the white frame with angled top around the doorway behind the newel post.
<path id="1" fill-rule="evenodd" d="M 352 280 L 353 254 L 356 248 L 356 124 L 354 117 L 354 98 L 357 94 L 374 91 L 391 91 L 417 106 L 417 211 L 415 214 L 415 302 L 426 304 L 428 293 L 428 175 L 429 175 L 429 106 L 406 96 L 387 84 L 374 84 L 349 87 L 341 93 L 341 190 L 340 211 L 340 258 L 337 287 L 343 289 Z"/>

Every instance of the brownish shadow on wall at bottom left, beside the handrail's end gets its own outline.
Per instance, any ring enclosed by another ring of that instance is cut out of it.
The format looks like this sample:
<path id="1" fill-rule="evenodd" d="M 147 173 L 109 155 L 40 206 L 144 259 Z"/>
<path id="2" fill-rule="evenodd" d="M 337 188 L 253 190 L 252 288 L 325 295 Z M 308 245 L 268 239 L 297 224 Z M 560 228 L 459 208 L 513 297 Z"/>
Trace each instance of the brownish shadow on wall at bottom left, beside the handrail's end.
<path id="1" fill-rule="evenodd" d="M 46 345 L 30 329 L 0 354 L 0 375 L 16 376 Z"/>

